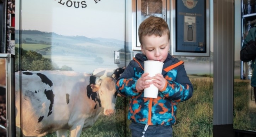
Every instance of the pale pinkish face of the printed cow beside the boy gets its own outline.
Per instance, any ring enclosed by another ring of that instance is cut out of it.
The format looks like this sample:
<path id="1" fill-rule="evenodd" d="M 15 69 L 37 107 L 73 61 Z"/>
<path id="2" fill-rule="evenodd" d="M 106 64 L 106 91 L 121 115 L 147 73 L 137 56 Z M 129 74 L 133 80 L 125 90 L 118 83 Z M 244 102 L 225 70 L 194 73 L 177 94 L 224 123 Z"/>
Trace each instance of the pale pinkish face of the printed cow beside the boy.
<path id="1" fill-rule="evenodd" d="M 117 91 L 115 89 L 115 79 L 112 77 L 105 77 L 97 79 L 95 85 L 91 85 L 93 91 L 98 91 L 100 102 L 104 108 L 105 115 L 112 115 L 115 113 L 115 101 L 117 100 Z"/>

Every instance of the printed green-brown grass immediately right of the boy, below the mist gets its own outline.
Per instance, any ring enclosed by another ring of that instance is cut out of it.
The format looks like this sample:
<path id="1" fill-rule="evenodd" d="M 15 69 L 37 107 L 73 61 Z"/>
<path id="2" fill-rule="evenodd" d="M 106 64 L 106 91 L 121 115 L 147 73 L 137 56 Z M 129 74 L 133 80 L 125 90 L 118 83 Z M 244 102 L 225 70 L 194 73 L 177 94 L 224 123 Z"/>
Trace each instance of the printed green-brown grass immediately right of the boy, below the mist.
<path id="1" fill-rule="evenodd" d="M 191 80 L 193 97 L 178 103 L 174 137 L 212 137 L 213 83 L 206 79 Z"/>

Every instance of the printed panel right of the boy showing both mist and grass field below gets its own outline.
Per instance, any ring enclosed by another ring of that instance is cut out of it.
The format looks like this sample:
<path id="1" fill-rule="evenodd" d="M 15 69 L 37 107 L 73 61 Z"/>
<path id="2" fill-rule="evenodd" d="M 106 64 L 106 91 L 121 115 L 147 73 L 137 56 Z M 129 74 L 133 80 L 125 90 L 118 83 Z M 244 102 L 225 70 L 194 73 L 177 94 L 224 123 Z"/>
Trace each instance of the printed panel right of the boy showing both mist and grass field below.
<path id="1" fill-rule="evenodd" d="M 191 80 L 194 92 L 191 99 L 178 103 L 177 122 L 173 126 L 174 137 L 213 136 L 212 55 L 213 47 L 210 57 L 176 57 L 184 61 L 185 70 Z"/>

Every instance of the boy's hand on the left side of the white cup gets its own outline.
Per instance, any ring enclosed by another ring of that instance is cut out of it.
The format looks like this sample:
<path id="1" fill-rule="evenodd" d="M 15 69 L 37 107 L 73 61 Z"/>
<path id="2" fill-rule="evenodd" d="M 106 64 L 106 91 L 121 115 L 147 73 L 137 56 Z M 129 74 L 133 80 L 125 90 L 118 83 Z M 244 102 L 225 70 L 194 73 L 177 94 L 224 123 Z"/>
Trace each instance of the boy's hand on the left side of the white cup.
<path id="1" fill-rule="evenodd" d="M 148 76 L 149 73 L 143 73 L 141 77 L 137 80 L 136 89 L 141 91 L 153 84 L 152 82 L 146 82 L 146 80 L 151 80 L 152 78 Z"/>

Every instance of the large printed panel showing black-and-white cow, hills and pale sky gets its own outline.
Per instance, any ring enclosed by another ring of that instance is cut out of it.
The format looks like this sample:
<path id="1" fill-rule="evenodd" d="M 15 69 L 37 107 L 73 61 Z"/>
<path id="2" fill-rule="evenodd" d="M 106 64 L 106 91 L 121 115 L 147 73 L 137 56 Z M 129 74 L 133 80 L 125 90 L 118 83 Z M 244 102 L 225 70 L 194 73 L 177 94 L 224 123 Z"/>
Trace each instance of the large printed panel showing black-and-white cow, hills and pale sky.
<path id="1" fill-rule="evenodd" d="M 124 137 L 125 99 L 115 81 L 125 69 L 125 2 L 16 0 L 16 7 L 16 136 Z"/>

